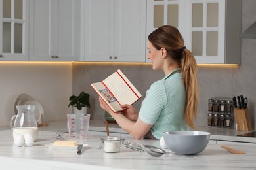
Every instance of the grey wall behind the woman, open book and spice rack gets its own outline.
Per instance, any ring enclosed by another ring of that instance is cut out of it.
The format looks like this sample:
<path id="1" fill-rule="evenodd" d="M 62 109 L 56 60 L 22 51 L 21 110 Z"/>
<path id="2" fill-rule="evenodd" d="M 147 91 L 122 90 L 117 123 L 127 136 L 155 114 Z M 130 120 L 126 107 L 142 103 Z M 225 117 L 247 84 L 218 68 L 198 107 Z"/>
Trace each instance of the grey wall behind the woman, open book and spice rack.
<path id="1" fill-rule="evenodd" d="M 242 1 L 242 31 L 255 22 L 256 1 Z M 233 97 L 244 95 L 249 99 L 248 109 L 251 114 L 251 122 L 256 129 L 256 39 L 242 39 L 241 65 L 238 67 L 223 66 L 199 66 L 198 78 L 200 82 L 200 101 L 196 124 L 207 126 L 207 103 L 211 97 Z M 150 65 L 106 64 L 106 63 L 74 63 L 73 67 L 73 93 L 81 90 L 91 94 L 91 117 L 96 120 L 104 120 L 104 112 L 98 104 L 98 95 L 93 92 L 90 84 L 104 79 L 116 69 L 122 69 L 125 75 L 131 79 L 142 95 L 146 96 L 146 90 L 150 84 L 163 78 L 160 71 L 152 71 Z M 136 103 L 139 109 L 142 99 Z"/>

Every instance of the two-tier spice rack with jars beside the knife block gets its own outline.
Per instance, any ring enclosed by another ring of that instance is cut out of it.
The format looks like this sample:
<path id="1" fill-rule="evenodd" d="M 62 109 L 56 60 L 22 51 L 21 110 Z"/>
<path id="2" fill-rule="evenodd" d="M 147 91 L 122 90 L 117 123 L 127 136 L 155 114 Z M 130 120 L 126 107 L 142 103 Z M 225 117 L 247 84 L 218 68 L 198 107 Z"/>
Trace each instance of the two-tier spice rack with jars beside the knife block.
<path id="1" fill-rule="evenodd" d="M 207 125 L 234 128 L 234 103 L 231 97 L 211 97 L 208 101 Z"/>

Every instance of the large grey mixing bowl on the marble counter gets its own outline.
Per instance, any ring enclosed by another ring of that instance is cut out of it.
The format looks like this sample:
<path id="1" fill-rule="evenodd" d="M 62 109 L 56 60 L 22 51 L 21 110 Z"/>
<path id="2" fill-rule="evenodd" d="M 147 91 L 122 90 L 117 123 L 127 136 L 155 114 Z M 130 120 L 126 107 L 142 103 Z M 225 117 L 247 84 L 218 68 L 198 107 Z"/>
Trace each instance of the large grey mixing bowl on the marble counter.
<path id="1" fill-rule="evenodd" d="M 209 143 L 210 133 L 204 131 L 167 131 L 163 133 L 166 146 L 177 154 L 198 154 Z"/>

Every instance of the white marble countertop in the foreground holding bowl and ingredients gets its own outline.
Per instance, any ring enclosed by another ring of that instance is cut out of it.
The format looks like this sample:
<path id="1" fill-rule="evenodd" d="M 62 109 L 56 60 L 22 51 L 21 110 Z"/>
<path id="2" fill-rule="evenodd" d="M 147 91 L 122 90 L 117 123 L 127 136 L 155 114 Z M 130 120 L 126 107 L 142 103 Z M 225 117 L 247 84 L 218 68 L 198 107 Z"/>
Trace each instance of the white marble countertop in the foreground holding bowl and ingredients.
<path id="1" fill-rule="evenodd" d="M 51 150 L 45 144 L 53 143 L 54 131 L 39 131 L 35 144 L 31 147 L 17 147 L 13 144 L 12 131 L 0 131 L 1 169 L 45 170 L 45 169 L 255 169 L 256 147 L 252 143 L 209 144 L 194 158 L 164 154 L 154 157 L 146 152 L 137 152 L 121 145 L 119 153 L 98 150 L 100 137 L 106 132 L 89 131 L 83 143 L 89 144 L 81 155 L 76 150 Z M 66 133 L 67 135 L 67 133 Z M 136 140 L 126 137 L 125 141 L 159 146 L 158 140 Z M 231 154 L 221 148 L 230 146 L 246 152 L 244 155 Z"/>

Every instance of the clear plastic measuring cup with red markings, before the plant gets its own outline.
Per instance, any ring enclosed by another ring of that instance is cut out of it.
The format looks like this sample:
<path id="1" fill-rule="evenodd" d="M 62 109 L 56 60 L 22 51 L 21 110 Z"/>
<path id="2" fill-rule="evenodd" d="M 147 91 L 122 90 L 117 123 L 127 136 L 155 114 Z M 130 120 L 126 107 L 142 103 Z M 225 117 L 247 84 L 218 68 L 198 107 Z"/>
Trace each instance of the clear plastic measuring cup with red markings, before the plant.
<path id="1" fill-rule="evenodd" d="M 68 133 L 71 139 L 85 139 L 87 137 L 90 114 L 70 113 L 68 118 Z"/>

